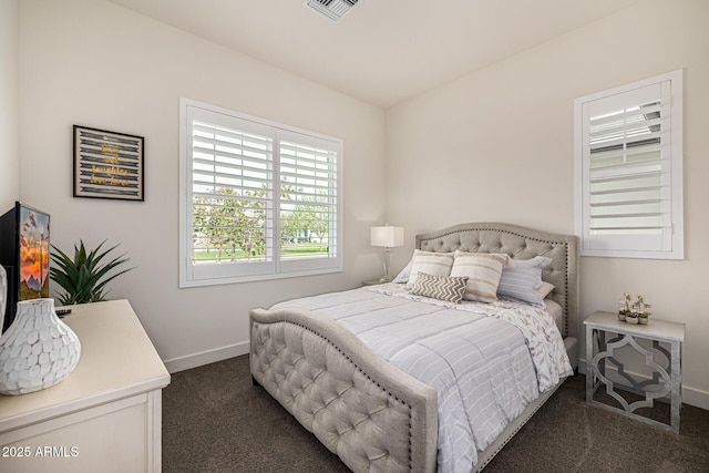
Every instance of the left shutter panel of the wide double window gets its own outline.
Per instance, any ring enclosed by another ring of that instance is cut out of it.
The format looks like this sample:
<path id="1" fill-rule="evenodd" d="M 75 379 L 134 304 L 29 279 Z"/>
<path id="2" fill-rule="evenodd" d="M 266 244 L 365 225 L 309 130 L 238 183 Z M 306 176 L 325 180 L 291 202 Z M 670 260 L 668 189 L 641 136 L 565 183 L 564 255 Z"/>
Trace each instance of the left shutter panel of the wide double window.
<path id="1" fill-rule="evenodd" d="M 273 131 L 198 109 L 191 119 L 194 277 L 274 273 Z"/>

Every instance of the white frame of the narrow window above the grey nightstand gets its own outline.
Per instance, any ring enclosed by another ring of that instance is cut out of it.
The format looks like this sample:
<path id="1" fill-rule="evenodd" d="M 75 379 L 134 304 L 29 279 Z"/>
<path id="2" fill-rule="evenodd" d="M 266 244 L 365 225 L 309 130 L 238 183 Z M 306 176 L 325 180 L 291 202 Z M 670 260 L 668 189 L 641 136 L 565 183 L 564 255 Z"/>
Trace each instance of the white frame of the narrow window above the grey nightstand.
<path id="1" fill-rule="evenodd" d="M 661 241 L 654 248 L 648 247 L 646 235 L 618 235 L 617 237 L 594 238 L 590 235 L 590 153 L 585 156 L 586 125 L 585 111 L 593 102 L 623 99 L 649 86 L 668 89 L 669 96 L 661 96 L 661 107 L 669 114 L 662 121 L 659 172 L 662 184 L 660 189 L 669 189 L 662 197 L 662 216 L 669 220 L 656 240 Z M 665 109 L 666 107 L 666 109 Z M 667 130 L 669 125 L 669 130 Z M 575 227 L 580 237 L 580 256 L 684 259 L 684 156 L 682 156 L 682 70 L 672 71 L 655 78 L 633 82 L 626 85 L 602 91 L 574 101 L 574 174 L 575 174 Z M 629 247 L 634 247 L 629 249 Z M 644 248 L 645 247 L 645 248 Z"/>

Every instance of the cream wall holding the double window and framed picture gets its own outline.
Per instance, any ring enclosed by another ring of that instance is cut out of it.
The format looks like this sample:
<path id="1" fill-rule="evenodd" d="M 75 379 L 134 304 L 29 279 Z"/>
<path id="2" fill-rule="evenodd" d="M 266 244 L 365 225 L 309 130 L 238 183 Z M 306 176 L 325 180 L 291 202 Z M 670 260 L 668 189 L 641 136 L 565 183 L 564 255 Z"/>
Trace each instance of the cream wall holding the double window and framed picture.
<path id="1" fill-rule="evenodd" d="M 345 273 L 178 289 L 178 99 L 341 137 Z M 145 202 L 72 197 L 72 125 L 145 137 Z M 52 215 L 52 243 L 121 243 L 115 280 L 173 370 L 247 350 L 248 310 L 377 276 L 384 113 L 106 1 L 20 2 L 21 197 Z M 366 184 L 364 184 L 366 183 Z"/>

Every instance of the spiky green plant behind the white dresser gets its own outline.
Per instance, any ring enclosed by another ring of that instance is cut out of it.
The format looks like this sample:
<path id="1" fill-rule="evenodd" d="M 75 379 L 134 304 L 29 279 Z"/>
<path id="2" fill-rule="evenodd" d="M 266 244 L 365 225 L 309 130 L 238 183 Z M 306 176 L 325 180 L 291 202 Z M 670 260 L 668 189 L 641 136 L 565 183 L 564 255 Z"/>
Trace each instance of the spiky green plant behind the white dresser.
<path id="1" fill-rule="evenodd" d="M 73 258 L 52 245 L 54 253 L 50 256 L 54 265 L 49 270 L 51 279 L 63 289 L 56 297 L 62 306 L 105 300 L 106 284 L 135 269 L 127 268 L 109 276 L 109 271 L 123 265 L 129 258 L 124 257 L 125 254 L 117 257 L 109 256 L 119 245 L 101 251 L 105 243 L 106 240 L 103 240 L 97 247 L 86 251 L 84 243 L 79 240 L 79 246 L 74 245 Z"/>

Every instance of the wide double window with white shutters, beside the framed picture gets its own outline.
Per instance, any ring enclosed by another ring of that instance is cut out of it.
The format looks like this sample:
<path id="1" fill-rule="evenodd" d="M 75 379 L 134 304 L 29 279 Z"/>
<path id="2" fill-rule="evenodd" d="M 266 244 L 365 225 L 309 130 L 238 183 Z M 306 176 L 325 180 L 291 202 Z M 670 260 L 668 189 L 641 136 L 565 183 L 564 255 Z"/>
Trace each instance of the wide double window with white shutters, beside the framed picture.
<path id="1" fill-rule="evenodd" d="M 340 140 L 181 99 L 179 286 L 342 269 Z"/>

